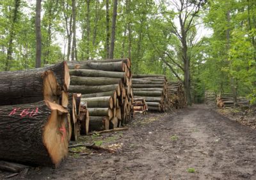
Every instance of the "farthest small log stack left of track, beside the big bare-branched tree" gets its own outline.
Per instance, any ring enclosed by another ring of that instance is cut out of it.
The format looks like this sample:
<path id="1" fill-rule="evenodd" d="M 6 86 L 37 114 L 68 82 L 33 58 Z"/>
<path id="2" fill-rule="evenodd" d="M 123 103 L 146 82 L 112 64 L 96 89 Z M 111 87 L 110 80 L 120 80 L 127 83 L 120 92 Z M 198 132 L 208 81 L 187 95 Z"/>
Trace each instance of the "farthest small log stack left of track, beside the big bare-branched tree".
<path id="1" fill-rule="evenodd" d="M 168 82 L 170 102 L 175 109 L 186 107 L 186 98 L 182 82 Z"/>

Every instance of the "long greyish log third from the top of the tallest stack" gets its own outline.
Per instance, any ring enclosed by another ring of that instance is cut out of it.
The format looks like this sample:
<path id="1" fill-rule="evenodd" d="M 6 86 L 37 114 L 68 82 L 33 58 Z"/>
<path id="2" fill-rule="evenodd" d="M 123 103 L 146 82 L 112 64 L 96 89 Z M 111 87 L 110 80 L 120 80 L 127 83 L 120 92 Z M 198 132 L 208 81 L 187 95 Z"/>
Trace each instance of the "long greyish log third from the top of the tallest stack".
<path id="1" fill-rule="evenodd" d="M 122 80 L 120 78 L 110 77 L 70 77 L 70 85 L 86 85 L 86 86 L 102 86 L 109 84 L 120 84 Z"/>

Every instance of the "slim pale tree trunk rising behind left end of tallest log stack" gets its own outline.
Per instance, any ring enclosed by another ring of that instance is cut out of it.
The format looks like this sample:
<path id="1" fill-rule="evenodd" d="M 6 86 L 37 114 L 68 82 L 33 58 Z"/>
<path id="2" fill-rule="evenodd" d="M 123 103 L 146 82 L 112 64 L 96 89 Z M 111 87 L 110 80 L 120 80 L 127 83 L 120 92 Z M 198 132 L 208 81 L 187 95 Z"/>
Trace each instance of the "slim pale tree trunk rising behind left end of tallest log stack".
<path id="1" fill-rule="evenodd" d="M 76 52 L 76 0 L 72 0 L 72 15 L 73 15 L 73 41 L 72 41 L 72 52 L 71 52 L 71 61 L 77 61 L 77 52 Z"/>

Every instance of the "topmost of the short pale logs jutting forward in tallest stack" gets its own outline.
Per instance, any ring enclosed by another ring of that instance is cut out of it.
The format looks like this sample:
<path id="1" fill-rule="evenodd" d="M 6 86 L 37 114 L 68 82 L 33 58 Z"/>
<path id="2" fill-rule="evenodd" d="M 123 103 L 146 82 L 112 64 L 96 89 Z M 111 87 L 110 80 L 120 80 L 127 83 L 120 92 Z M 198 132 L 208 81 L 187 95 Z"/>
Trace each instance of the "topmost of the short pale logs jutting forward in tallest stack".
<path id="1" fill-rule="evenodd" d="M 88 108 L 108 107 L 110 109 L 113 109 L 113 98 L 111 96 L 82 98 L 81 101 L 86 101 Z"/>

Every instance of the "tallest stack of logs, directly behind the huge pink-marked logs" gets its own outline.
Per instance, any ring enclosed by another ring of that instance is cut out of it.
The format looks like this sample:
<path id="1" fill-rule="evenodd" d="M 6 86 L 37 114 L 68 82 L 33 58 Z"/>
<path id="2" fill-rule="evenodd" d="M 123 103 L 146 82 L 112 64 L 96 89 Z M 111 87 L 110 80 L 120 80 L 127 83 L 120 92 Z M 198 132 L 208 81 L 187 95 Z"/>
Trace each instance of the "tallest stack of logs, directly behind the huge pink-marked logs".
<path id="1" fill-rule="evenodd" d="M 130 59 L 68 63 L 69 92 L 81 93 L 86 103 L 89 131 L 117 128 L 131 119 L 132 82 Z"/>

